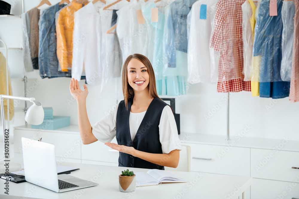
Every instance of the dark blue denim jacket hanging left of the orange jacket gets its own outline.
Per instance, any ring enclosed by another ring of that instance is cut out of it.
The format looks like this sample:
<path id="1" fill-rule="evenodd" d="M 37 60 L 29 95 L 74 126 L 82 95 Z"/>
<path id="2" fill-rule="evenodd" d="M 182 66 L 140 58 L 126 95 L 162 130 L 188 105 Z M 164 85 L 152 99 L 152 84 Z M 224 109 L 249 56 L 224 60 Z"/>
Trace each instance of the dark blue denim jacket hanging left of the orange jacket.
<path id="1" fill-rule="evenodd" d="M 56 54 L 55 13 L 66 4 L 59 3 L 45 9 L 39 19 L 39 74 L 42 78 L 71 77 L 71 71 L 58 71 Z"/>

